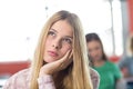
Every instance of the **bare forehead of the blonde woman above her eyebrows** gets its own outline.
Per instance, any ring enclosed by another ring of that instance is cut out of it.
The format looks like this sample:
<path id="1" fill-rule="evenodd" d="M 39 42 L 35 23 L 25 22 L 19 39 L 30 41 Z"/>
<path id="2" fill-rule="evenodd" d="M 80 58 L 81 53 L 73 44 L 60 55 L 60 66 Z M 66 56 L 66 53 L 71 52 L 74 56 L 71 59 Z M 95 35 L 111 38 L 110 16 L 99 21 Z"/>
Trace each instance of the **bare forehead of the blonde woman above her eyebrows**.
<path id="1" fill-rule="evenodd" d="M 66 20 L 59 20 L 51 29 L 55 30 L 58 33 L 65 34 L 65 36 L 73 36 L 73 30 L 70 23 Z"/>

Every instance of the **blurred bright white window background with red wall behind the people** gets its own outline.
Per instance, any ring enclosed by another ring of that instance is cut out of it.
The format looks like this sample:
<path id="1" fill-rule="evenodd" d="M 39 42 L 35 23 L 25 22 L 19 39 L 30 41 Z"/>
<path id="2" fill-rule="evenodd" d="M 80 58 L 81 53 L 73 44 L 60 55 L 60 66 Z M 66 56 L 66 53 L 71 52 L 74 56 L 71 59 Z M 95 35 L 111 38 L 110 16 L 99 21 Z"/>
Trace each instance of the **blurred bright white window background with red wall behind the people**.
<path id="1" fill-rule="evenodd" d="M 59 10 L 76 13 L 84 33 L 99 33 L 111 61 L 129 53 L 133 0 L 0 0 L 0 88 L 29 67 L 44 22 Z"/>

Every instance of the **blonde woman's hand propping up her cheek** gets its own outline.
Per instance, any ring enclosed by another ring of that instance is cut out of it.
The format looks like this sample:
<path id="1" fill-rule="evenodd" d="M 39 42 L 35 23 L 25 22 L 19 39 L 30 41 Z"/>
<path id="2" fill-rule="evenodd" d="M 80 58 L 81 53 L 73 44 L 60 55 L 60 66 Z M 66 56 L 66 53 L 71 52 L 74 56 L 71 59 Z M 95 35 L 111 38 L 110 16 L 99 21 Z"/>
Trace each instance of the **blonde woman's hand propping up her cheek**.
<path id="1" fill-rule="evenodd" d="M 40 69 L 40 75 L 39 76 L 43 76 L 43 75 L 53 75 L 60 70 L 65 69 L 71 62 L 71 57 L 72 57 L 72 51 L 69 50 L 64 57 L 62 57 L 61 59 L 54 61 L 54 62 L 50 62 L 47 63 L 44 66 L 41 67 Z"/>

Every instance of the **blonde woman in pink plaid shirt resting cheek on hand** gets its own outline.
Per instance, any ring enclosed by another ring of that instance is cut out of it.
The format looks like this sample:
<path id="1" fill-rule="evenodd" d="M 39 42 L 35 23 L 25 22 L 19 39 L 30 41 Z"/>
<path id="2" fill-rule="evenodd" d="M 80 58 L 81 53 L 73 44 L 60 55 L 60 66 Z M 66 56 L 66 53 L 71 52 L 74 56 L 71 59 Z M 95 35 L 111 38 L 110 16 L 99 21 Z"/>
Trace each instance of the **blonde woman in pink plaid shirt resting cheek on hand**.
<path id="1" fill-rule="evenodd" d="M 98 89 L 99 75 L 89 67 L 80 19 L 54 13 L 40 34 L 29 69 L 12 76 L 3 89 Z"/>

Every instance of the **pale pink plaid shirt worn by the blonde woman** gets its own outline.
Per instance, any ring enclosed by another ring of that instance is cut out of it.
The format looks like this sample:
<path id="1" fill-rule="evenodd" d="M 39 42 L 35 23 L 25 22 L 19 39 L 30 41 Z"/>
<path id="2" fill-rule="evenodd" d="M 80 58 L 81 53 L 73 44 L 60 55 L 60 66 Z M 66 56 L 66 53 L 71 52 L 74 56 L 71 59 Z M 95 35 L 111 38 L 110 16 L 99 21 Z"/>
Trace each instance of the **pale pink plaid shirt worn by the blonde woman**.
<path id="1" fill-rule="evenodd" d="M 99 75 L 93 69 L 91 78 L 94 89 L 99 87 Z M 45 75 L 38 78 L 39 89 L 55 89 L 52 76 Z M 3 86 L 3 89 L 30 89 L 30 70 L 24 69 L 13 75 Z"/>

